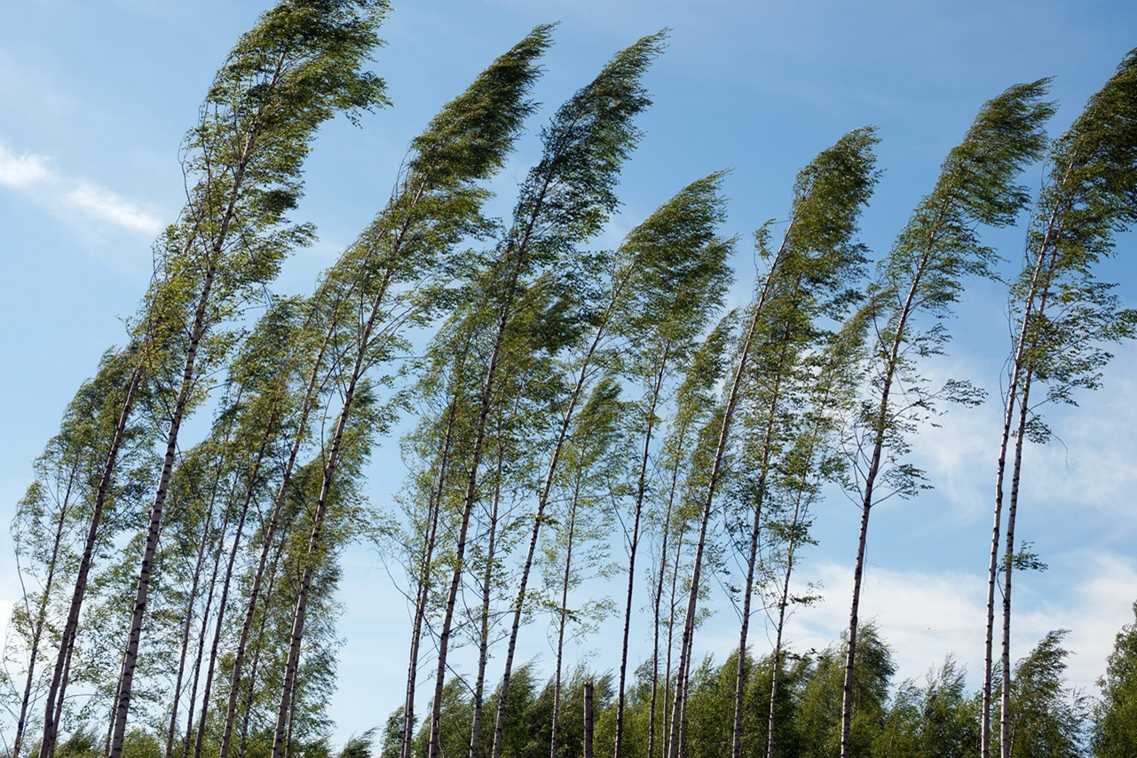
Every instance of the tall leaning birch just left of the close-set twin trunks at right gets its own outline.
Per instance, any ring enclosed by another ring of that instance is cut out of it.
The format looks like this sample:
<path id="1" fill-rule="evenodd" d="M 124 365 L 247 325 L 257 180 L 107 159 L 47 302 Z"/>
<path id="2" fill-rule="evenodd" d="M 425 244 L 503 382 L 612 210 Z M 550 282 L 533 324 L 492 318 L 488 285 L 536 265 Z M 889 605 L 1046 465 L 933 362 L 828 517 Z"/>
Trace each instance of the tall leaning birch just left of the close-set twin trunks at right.
<path id="1" fill-rule="evenodd" d="M 841 758 L 849 758 L 852 750 L 853 667 L 869 514 L 888 494 L 907 498 L 924 486 L 919 469 L 903 460 L 908 449 L 905 435 L 936 400 L 978 402 L 981 397 L 965 382 L 929 389 L 920 381 L 916 361 L 943 351 L 948 340 L 943 319 L 951 315 L 964 276 L 990 273 L 995 252 L 980 242 L 977 226 L 1013 223 L 1029 198 L 1014 182 L 1022 167 L 1041 155 L 1043 125 L 1053 111 L 1041 101 L 1045 93 L 1046 83 L 1039 81 L 1015 85 L 984 105 L 869 288 L 865 372 L 871 385 L 849 451 L 861 526 L 845 661 Z M 923 325 L 921 316 L 932 323 Z M 886 490 L 890 492 L 882 494 Z"/>

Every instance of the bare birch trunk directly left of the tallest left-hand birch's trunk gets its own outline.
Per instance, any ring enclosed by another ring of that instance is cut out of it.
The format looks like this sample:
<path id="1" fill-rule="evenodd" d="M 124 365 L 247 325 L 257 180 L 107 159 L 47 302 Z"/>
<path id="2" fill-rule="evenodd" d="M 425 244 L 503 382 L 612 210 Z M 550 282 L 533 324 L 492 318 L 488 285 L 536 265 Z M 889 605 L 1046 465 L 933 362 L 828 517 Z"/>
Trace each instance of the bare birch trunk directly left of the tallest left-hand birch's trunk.
<path id="1" fill-rule="evenodd" d="M 48 698 L 43 713 L 43 739 L 40 741 L 40 758 L 55 758 L 56 738 L 59 733 L 59 717 L 63 713 L 63 700 L 67 689 L 67 676 L 70 673 L 70 657 L 75 648 L 75 635 L 78 631 L 78 615 L 83 607 L 83 598 L 86 594 L 88 576 L 91 573 L 91 563 L 94 557 L 94 547 L 99 539 L 99 526 L 102 523 L 102 510 L 107 503 L 110 492 L 110 484 L 115 476 L 115 468 L 118 464 L 118 451 L 123 444 L 123 436 L 130 423 L 131 411 L 134 409 L 134 397 L 142 382 L 143 361 L 140 358 L 139 365 L 131 374 L 131 380 L 126 386 L 126 397 L 123 399 L 123 407 L 115 423 L 115 432 L 107 451 L 107 463 L 102 467 L 99 477 L 99 486 L 94 494 L 94 506 L 91 511 L 91 523 L 86 532 L 86 541 L 83 544 L 83 556 L 80 558 L 78 572 L 75 576 L 75 590 L 72 594 L 70 606 L 67 609 L 67 620 L 64 624 L 64 633 L 59 640 L 59 655 L 56 657 L 56 667 L 51 674 L 51 683 L 48 686 Z"/>

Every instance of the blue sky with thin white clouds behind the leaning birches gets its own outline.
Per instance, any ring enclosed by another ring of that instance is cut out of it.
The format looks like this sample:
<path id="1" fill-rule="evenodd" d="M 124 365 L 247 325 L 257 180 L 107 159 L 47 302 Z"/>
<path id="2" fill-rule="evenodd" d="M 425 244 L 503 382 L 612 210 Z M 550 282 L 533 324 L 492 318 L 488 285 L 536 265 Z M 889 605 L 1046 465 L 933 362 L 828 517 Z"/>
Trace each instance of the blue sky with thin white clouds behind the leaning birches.
<path id="1" fill-rule="evenodd" d="M 9 286 L 0 299 L 0 519 L 30 481 L 30 464 L 100 353 L 123 338 L 150 272 L 149 244 L 182 200 L 177 147 L 196 119 L 213 72 L 267 2 L 201 0 L 39 0 L 11 3 L 0 26 L 0 256 Z M 1137 9 L 1124 1 L 746 2 L 706 0 L 437 0 L 398 5 L 383 26 L 375 70 L 392 107 L 362 128 L 323 130 L 297 218 L 319 241 L 285 266 L 277 290 L 308 292 L 385 199 L 407 142 L 437 108 L 533 25 L 561 20 L 536 94 L 545 103 L 496 186 L 501 208 L 538 151 L 537 127 L 616 49 L 670 26 L 666 55 L 647 77 L 656 105 L 624 172 L 622 214 L 611 243 L 686 183 L 732 168 L 727 233 L 744 243 L 735 302 L 754 275 L 746 240 L 786 213 L 795 172 L 844 132 L 874 124 L 885 169 L 868 209 L 864 240 L 880 255 L 935 181 L 948 149 L 979 106 L 1006 86 L 1055 76 L 1059 133 L 1137 44 Z M 1037 186 L 1038 168 L 1026 183 Z M 990 238 L 1010 259 L 1022 231 Z M 1123 238 L 1109 265 L 1137 302 L 1132 253 Z M 993 489 L 997 390 L 1006 350 L 1005 293 L 977 283 L 951 326 L 951 355 L 929 372 L 993 391 L 972 409 L 952 409 L 915 445 L 933 492 L 873 513 L 863 617 L 875 616 L 898 653 L 901 676 L 921 677 L 948 651 L 974 673 Z M 1071 678 L 1092 686 L 1113 633 L 1137 599 L 1137 349 L 1124 345 L 1104 389 L 1052 417 L 1063 444 L 1031 449 L 1020 534 L 1051 569 L 1020 580 L 1014 655 L 1044 632 L 1072 630 Z M 375 455 L 373 500 L 383 507 L 404 475 L 396 440 Z M 836 495 L 818 509 L 821 544 L 803 581 L 825 601 L 791 622 L 798 649 L 822 647 L 846 623 L 857 513 Z M 0 610 L 18 597 L 7 538 L 0 538 Z M 346 557 L 339 736 L 381 723 L 400 699 L 408 624 L 381 561 L 365 549 Z M 601 585 L 596 585 L 603 590 Z M 612 630 L 616 627 L 613 625 Z M 698 634 L 722 652 L 732 644 L 729 607 Z M 647 630 L 640 630 L 640 643 Z M 978 632 L 978 633 L 977 633 Z M 615 639 L 615 634 L 599 640 Z M 542 628 L 523 656 L 549 658 Z M 636 632 L 633 631 L 633 640 Z M 757 648 L 763 642 L 757 635 Z M 596 639 L 600 669 L 616 665 Z M 381 651 L 381 653 L 376 653 Z"/>

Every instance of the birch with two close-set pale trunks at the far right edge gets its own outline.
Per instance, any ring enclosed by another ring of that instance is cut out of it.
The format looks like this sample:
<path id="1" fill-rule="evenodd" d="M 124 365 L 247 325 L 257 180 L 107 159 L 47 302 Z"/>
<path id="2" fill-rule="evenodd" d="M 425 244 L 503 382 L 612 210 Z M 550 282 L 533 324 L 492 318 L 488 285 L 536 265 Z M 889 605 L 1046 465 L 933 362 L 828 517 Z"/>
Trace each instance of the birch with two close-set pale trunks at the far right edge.
<path id="1" fill-rule="evenodd" d="M 1011 302 L 1016 331 L 1009 360 L 1003 430 L 995 477 L 995 519 L 988 564 L 987 639 L 984 676 L 984 758 L 989 755 L 995 583 L 1003 570 L 1002 720 L 999 745 L 1009 756 L 1007 707 L 1011 697 L 1011 590 L 1016 563 L 1015 516 L 1027 438 L 1045 441 L 1049 432 L 1031 405 L 1036 382 L 1046 401 L 1073 402 L 1078 388 L 1095 389 L 1110 359 L 1103 343 L 1134 336 L 1137 314 L 1120 308 L 1111 284 L 1094 268 L 1113 252 L 1118 232 L 1137 223 L 1137 51 L 1130 52 L 1060 138 L 1049 156 L 1049 182 L 1039 197 L 1028 235 L 1023 269 L 1013 282 Z M 999 561 L 999 531 L 1014 438 L 1006 538 Z"/>

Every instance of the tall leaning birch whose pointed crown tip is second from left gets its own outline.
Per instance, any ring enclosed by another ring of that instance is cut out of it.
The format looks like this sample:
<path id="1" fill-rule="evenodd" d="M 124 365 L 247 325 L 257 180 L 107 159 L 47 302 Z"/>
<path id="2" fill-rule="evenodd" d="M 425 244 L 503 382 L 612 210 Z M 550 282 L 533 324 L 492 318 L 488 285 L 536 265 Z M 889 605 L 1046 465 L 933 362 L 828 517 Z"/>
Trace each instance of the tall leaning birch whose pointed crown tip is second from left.
<path id="1" fill-rule="evenodd" d="M 327 497 L 341 451 L 352 443 L 366 448 L 385 423 L 374 416 L 367 425 L 356 420 L 366 413 L 373 392 L 375 380 L 368 374 L 390 361 L 402 344 L 401 331 L 407 324 L 431 317 L 439 303 L 432 285 L 451 269 L 454 248 L 466 235 L 483 230 L 481 205 L 488 192 L 479 182 L 501 167 L 532 108 L 525 98 L 537 74 L 534 60 L 548 45 L 549 32 L 548 26 L 534 30 L 431 122 L 412 144 L 413 157 L 387 207 L 329 275 L 333 286 L 354 292 L 360 308 L 358 318 L 341 323 L 333 339 L 339 353 L 333 384 L 340 408 L 321 453 L 323 483 L 308 542 L 313 558 L 322 549 Z M 355 438 L 349 433 L 352 425 Z M 300 578 L 273 758 L 285 750 L 312 576 L 313 566 L 308 566 Z"/>

